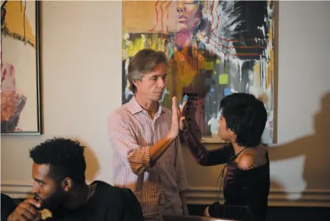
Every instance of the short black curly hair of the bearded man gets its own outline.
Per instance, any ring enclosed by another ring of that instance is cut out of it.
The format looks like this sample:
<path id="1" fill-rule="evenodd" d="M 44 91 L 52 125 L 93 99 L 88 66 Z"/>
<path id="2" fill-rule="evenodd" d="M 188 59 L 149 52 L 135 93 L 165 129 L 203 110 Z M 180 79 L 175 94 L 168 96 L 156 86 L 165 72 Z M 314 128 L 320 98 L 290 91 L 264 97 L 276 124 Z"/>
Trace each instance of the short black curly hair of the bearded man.
<path id="1" fill-rule="evenodd" d="M 71 178 L 75 184 L 85 183 L 85 146 L 78 141 L 52 138 L 30 150 L 30 158 L 36 164 L 49 164 L 50 177 L 60 182 Z"/>

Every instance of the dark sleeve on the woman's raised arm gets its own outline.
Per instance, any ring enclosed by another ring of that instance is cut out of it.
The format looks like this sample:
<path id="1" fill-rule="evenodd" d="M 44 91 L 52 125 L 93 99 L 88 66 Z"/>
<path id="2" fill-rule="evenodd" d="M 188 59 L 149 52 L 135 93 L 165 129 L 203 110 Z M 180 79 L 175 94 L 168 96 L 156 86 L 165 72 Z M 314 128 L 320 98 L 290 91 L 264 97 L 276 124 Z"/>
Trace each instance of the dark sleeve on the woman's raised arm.
<path id="1" fill-rule="evenodd" d="M 190 129 L 183 132 L 182 135 L 184 140 L 186 140 L 189 150 L 200 165 L 220 165 L 230 160 L 232 151 L 229 145 L 223 145 L 223 147 L 214 150 L 207 150 L 199 140 L 196 139 L 196 136 L 193 135 Z"/>

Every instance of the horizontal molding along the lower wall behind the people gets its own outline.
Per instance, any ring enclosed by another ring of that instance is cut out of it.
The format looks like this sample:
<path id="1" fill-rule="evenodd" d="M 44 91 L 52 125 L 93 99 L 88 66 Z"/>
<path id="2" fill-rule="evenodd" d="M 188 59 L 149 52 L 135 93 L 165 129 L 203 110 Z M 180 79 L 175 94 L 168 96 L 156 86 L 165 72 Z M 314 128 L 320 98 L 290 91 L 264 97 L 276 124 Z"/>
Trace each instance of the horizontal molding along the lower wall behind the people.
<path id="1" fill-rule="evenodd" d="M 31 194 L 31 183 L 1 181 L 1 192 L 12 198 L 24 198 Z M 209 205 L 216 200 L 214 187 L 190 187 L 186 193 L 187 202 L 191 205 Z M 220 194 L 222 196 L 222 193 Z M 297 198 L 297 200 L 288 200 Z M 220 197 L 220 201 L 223 198 Z M 268 205 L 283 207 L 330 207 L 329 190 L 270 190 Z"/>

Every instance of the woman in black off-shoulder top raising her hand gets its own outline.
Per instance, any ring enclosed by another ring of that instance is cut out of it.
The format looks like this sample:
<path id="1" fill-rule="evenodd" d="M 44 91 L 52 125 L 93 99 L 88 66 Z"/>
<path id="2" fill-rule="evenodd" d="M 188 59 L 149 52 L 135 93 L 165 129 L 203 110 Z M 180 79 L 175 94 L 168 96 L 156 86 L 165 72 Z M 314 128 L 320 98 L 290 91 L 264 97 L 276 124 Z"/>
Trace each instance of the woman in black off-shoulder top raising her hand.
<path id="1" fill-rule="evenodd" d="M 199 143 L 192 131 L 194 128 L 184 117 L 180 121 L 183 137 L 200 165 L 225 164 L 219 178 L 228 168 L 223 180 L 225 207 L 215 202 L 207 208 L 206 214 L 228 219 L 265 220 L 270 192 L 270 160 L 261 143 L 267 121 L 265 106 L 250 94 L 233 93 L 220 102 L 220 111 L 218 132 L 229 144 L 214 150 L 207 150 Z"/>

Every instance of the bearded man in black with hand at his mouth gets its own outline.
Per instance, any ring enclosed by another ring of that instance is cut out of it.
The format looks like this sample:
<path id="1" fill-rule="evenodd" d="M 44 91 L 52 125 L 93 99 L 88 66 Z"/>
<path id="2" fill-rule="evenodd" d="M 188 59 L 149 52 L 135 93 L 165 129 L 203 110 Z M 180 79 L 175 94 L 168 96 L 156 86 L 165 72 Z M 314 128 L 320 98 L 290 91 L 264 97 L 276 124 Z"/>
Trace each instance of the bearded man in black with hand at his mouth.
<path id="1" fill-rule="evenodd" d="M 85 183 L 84 147 L 78 141 L 53 138 L 30 150 L 34 198 L 21 202 L 8 220 L 143 220 L 133 192 L 96 180 Z"/>

